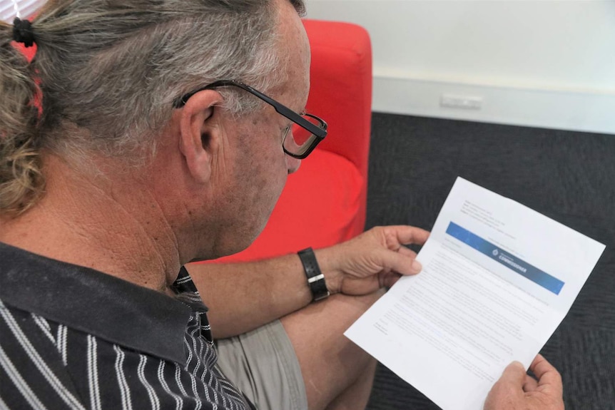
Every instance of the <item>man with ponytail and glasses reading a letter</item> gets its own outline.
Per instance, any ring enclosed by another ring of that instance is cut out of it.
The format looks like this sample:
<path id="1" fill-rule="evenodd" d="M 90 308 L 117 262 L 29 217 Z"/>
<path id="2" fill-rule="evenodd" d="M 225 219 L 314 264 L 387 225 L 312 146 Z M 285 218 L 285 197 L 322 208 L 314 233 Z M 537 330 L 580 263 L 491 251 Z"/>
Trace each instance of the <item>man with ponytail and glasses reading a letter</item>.
<path id="1" fill-rule="evenodd" d="M 182 268 L 247 247 L 322 138 L 292 112 L 309 88 L 302 7 L 58 0 L 1 26 L 0 408 L 365 407 L 375 362 L 342 330 L 420 270 L 403 244 L 427 232 L 304 254 L 332 293 L 313 304 L 297 255 L 190 267 L 207 314 Z M 36 43 L 31 65 L 11 40 Z M 509 367 L 487 408 L 559 409 L 559 375 L 534 370 Z"/>

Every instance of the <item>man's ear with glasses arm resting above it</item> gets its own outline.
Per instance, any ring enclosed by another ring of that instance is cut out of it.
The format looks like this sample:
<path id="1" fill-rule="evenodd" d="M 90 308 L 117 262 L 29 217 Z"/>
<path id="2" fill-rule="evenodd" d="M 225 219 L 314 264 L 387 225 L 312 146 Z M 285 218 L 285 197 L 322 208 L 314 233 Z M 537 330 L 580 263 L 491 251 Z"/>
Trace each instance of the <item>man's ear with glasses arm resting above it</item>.
<path id="1" fill-rule="evenodd" d="M 223 102 L 220 93 L 203 90 L 185 103 L 180 113 L 179 148 L 190 174 L 205 183 L 211 176 L 212 157 L 220 141 L 222 128 L 216 126 L 215 106 Z"/>

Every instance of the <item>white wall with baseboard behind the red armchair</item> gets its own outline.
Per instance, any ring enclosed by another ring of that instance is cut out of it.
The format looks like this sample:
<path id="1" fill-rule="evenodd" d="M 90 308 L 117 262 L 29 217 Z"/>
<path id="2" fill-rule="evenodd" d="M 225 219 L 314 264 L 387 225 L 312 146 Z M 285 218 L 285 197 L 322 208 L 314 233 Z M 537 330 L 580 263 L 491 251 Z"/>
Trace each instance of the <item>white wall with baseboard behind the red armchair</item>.
<path id="1" fill-rule="evenodd" d="M 370 32 L 374 111 L 615 133 L 615 1 L 307 4 Z"/>

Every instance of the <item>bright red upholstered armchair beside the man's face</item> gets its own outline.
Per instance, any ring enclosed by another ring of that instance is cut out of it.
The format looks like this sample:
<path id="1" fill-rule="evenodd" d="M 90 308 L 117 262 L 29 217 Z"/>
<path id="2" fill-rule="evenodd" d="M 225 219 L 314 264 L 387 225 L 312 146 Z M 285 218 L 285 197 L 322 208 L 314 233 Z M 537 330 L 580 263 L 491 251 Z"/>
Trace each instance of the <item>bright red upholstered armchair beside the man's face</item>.
<path id="1" fill-rule="evenodd" d="M 255 242 L 215 262 L 258 260 L 305 247 L 326 247 L 365 228 L 372 108 L 370 37 L 354 24 L 303 23 L 312 48 L 306 111 L 327 121 L 329 133 L 298 172 L 289 176 Z"/>

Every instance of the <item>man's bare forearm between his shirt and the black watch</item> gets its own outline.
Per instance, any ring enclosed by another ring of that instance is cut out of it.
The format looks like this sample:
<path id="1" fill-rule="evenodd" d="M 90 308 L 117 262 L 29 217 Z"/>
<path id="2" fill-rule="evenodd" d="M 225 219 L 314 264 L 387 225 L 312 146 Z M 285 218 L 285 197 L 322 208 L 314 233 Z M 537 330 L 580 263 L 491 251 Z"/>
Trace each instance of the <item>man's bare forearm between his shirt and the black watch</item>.
<path id="1" fill-rule="evenodd" d="M 260 262 L 190 264 L 213 336 L 248 332 L 308 305 L 312 294 L 297 255 Z"/>

